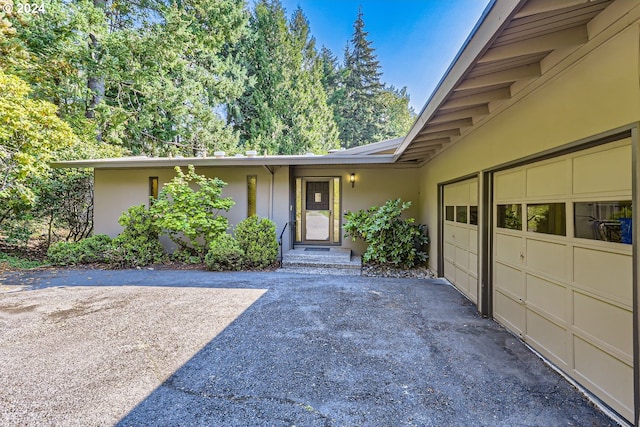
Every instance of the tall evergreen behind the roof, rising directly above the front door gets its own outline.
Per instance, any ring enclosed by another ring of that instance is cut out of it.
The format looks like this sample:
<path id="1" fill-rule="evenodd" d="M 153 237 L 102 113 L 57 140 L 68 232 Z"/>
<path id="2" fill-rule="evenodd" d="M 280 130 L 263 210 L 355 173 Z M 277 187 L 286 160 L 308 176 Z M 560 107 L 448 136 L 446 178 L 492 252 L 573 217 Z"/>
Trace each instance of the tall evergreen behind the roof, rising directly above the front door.
<path id="1" fill-rule="evenodd" d="M 324 153 L 338 146 L 322 69 L 301 9 L 290 22 L 279 0 L 262 0 L 242 54 L 253 84 L 229 106 L 246 148 L 269 154 Z"/>

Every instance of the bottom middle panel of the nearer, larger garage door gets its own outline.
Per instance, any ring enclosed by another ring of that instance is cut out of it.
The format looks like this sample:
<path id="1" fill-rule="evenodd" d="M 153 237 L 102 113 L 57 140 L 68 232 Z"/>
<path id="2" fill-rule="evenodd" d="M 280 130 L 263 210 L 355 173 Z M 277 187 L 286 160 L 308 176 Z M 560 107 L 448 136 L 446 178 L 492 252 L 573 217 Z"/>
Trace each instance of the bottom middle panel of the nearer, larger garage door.
<path id="1" fill-rule="evenodd" d="M 532 310 L 527 310 L 527 341 L 534 341 L 554 362 L 567 365 L 566 329 Z"/>

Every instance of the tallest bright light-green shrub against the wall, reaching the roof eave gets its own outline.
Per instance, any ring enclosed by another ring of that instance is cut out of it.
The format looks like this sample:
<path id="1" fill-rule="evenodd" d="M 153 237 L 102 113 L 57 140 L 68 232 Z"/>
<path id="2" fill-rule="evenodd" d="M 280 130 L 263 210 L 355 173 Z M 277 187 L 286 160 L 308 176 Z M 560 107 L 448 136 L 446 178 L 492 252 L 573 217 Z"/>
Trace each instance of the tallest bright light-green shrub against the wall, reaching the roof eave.
<path id="1" fill-rule="evenodd" d="M 192 165 L 187 174 L 177 166 L 175 170 L 176 176 L 162 188 L 151 213 L 156 224 L 180 247 L 179 252 L 201 261 L 209 245 L 227 231 L 227 218 L 218 212 L 228 211 L 234 202 L 230 197 L 220 197 L 227 185 L 224 181 L 198 175 Z"/>

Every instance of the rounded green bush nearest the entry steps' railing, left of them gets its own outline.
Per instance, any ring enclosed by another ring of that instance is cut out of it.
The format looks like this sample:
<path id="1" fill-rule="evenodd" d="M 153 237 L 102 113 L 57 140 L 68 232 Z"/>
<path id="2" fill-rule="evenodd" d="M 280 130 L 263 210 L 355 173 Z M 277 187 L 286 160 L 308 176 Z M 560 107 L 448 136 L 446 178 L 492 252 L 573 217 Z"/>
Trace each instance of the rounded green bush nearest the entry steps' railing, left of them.
<path id="1" fill-rule="evenodd" d="M 236 226 L 235 236 L 244 251 L 246 267 L 265 268 L 276 262 L 276 224 L 270 219 L 252 215 Z"/>

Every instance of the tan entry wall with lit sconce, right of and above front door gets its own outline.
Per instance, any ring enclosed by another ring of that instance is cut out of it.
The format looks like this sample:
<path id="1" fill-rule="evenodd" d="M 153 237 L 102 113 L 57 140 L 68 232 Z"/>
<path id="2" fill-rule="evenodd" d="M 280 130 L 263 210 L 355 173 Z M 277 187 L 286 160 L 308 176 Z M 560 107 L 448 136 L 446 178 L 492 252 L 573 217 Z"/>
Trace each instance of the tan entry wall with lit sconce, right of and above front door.
<path id="1" fill-rule="evenodd" d="M 349 182 L 349 175 L 355 174 L 356 182 L 353 187 Z M 342 183 L 342 213 L 366 209 L 371 206 L 383 205 L 387 200 L 401 198 L 411 201 L 412 206 L 407 210 L 407 217 L 418 217 L 419 208 L 419 177 L 417 168 L 401 168 L 389 166 L 353 167 L 296 167 L 294 177 L 340 177 Z M 344 217 L 343 217 L 344 223 Z M 362 254 L 366 246 L 362 242 L 353 242 L 350 238 L 342 238 L 342 247 L 352 249 L 356 254 Z"/>

